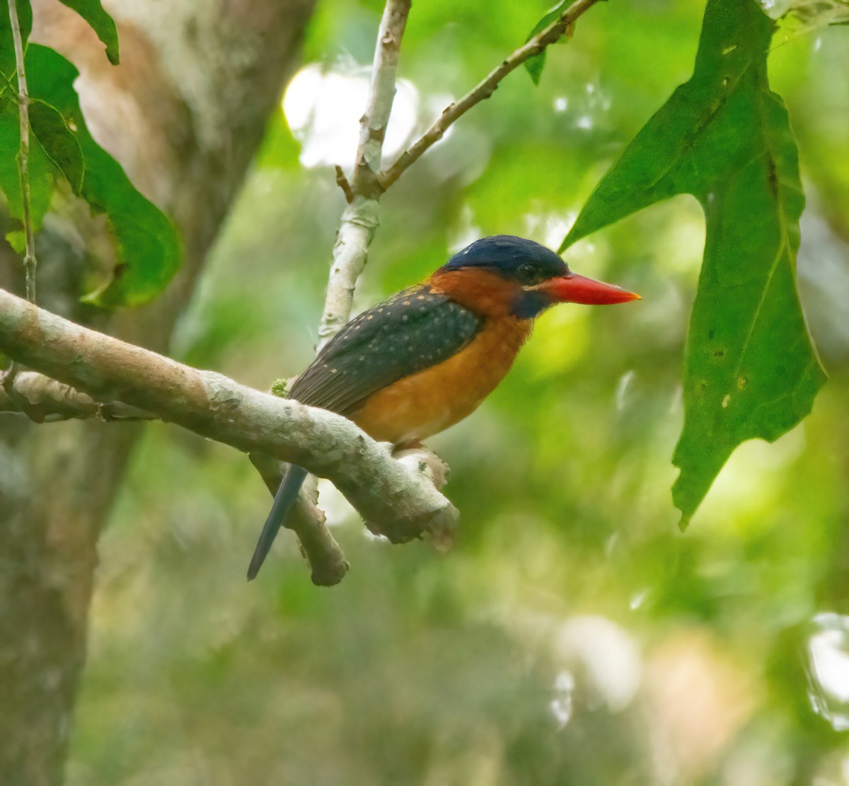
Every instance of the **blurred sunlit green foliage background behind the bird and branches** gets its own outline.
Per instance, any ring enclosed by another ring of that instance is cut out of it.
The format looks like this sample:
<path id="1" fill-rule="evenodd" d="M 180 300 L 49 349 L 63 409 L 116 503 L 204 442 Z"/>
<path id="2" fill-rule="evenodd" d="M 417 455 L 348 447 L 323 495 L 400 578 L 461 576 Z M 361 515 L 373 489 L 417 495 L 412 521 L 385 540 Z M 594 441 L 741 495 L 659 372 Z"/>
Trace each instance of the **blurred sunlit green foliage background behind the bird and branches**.
<path id="1" fill-rule="evenodd" d="M 549 0 L 414 3 L 389 159 L 520 45 Z M 701 3 L 616 0 L 517 71 L 385 195 L 357 308 L 482 235 L 558 246 L 593 185 L 692 70 Z M 311 359 L 382 3 L 319 3 L 173 353 L 267 388 Z M 686 534 L 670 457 L 704 223 L 678 197 L 575 246 L 639 291 L 555 309 L 452 467 L 453 551 L 366 536 L 317 588 L 244 455 L 149 426 L 101 543 L 74 786 L 849 783 L 849 38 L 771 56 L 808 207 L 799 277 L 831 381 L 745 444 Z M 745 221 L 745 216 L 740 217 Z M 779 348 L 780 351 L 780 348 Z"/>

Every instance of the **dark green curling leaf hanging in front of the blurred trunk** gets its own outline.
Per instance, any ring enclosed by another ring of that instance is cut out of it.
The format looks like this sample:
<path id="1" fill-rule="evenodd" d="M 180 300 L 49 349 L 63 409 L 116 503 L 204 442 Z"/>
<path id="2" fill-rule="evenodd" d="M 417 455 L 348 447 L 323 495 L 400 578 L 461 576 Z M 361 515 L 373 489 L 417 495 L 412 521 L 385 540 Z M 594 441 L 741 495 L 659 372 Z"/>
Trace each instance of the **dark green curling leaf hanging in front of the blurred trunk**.
<path id="1" fill-rule="evenodd" d="M 180 244 L 165 214 L 133 187 L 121 165 L 88 133 L 73 88 L 76 68 L 53 49 L 30 44 L 26 52 L 30 93 L 59 111 L 85 162 L 79 194 L 97 212 L 104 212 L 115 239 L 118 264 L 113 279 L 87 299 L 104 306 L 146 303 L 159 294 L 177 271 Z M 53 123 L 48 134 L 68 161 L 70 146 Z M 61 165 L 60 165 L 61 166 Z M 63 170 L 64 171 L 64 170 Z M 72 183 L 73 185 L 73 183 Z"/>

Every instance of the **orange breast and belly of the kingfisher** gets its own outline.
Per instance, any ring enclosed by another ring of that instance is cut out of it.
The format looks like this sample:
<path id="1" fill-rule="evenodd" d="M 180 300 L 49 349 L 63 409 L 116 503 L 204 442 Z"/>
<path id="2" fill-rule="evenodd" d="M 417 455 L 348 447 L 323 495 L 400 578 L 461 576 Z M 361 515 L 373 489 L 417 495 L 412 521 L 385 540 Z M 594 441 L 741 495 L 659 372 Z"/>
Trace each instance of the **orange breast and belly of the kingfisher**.
<path id="1" fill-rule="evenodd" d="M 509 371 L 531 335 L 531 320 L 490 318 L 457 354 L 369 397 L 351 420 L 372 438 L 418 442 L 473 412 Z"/>

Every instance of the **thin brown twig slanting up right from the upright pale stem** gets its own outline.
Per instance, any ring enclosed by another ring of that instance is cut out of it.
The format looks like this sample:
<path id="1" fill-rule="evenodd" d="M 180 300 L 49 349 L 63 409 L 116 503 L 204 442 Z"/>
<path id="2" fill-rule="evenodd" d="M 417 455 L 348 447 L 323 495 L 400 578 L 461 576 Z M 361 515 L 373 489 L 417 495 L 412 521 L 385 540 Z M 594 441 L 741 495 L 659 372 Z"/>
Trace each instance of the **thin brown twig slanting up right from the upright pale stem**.
<path id="1" fill-rule="evenodd" d="M 442 139 L 448 127 L 468 112 L 475 104 L 488 99 L 510 71 L 514 71 L 526 59 L 533 57 L 535 54 L 540 54 L 543 49 L 559 41 L 560 37 L 564 35 L 571 36 L 575 21 L 595 3 L 599 3 L 599 0 L 576 0 L 575 3 L 572 3 L 548 27 L 539 31 L 536 36 L 516 49 L 498 68 L 491 71 L 486 76 L 486 79 L 477 84 L 469 93 L 466 93 L 462 99 L 459 99 L 443 110 L 436 122 L 408 150 L 405 150 L 391 167 L 384 172 L 380 172 L 380 175 L 378 175 L 380 189 L 384 191 L 388 189 L 414 161 L 417 161 L 422 156 L 425 150 L 428 150 L 433 144 Z"/>

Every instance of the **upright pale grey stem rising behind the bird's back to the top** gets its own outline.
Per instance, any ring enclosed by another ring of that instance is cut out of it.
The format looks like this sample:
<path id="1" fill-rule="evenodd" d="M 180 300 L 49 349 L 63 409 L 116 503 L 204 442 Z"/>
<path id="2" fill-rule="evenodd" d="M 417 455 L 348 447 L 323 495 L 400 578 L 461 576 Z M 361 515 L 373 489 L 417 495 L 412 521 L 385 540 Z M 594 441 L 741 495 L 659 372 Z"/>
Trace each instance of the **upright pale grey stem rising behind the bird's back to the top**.
<path id="1" fill-rule="evenodd" d="M 346 206 L 333 247 L 333 262 L 318 325 L 318 349 L 338 333 L 351 316 L 357 278 L 365 267 L 368 246 L 380 223 L 377 201 L 383 189 L 378 183 L 386 126 L 395 99 L 395 77 L 401 40 L 407 26 L 411 0 L 386 0 L 374 48 L 374 65 L 366 109 L 360 120 L 357 158 L 345 192 Z M 337 178 L 337 182 L 339 182 Z M 341 185 L 341 184 L 340 184 Z"/>

